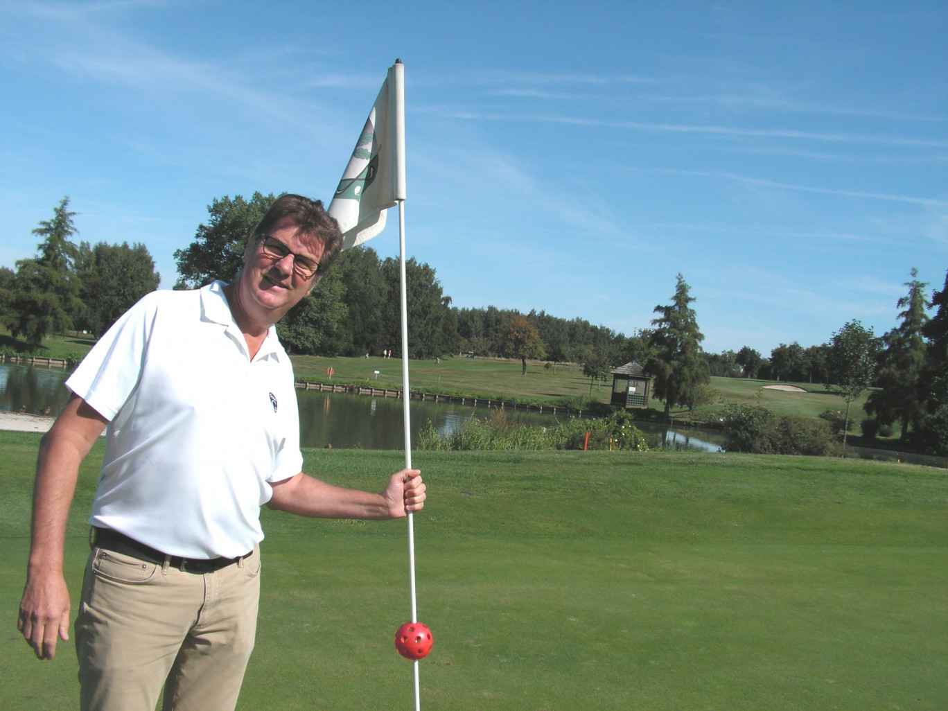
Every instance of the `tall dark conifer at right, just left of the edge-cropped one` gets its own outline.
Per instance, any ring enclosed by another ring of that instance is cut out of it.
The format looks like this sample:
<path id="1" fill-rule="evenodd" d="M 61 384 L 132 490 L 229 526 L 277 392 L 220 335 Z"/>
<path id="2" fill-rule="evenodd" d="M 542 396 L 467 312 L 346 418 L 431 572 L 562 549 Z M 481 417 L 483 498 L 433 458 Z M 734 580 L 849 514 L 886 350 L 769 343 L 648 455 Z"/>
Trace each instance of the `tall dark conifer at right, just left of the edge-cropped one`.
<path id="1" fill-rule="evenodd" d="M 920 428 L 926 413 L 920 388 L 927 348 L 922 332 L 928 323 L 926 312 L 931 303 L 925 298 L 928 284 L 920 282 L 918 275 L 919 270 L 913 268 L 912 280 L 904 284 L 908 294 L 898 302 L 902 322 L 883 337 L 884 350 L 879 355 L 876 376 L 879 390 L 869 393 L 865 406 L 866 412 L 874 414 L 883 425 L 899 421 L 902 440 L 910 431 Z"/>

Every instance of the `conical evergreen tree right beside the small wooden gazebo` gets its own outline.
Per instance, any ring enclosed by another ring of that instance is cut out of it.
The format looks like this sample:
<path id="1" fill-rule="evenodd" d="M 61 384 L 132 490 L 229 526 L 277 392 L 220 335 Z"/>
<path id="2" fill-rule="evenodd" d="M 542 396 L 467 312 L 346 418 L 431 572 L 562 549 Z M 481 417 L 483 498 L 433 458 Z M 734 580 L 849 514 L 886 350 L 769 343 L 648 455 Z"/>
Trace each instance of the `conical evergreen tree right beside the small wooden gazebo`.
<path id="1" fill-rule="evenodd" d="M 688 294 L 688 284 L 679 274 L 675 296 L 666 306 L 656 306 L 658 319 L 652 319 L 655 331 L 649 338 L 651 354 L 645 370 L 654 376 L 652 394 L 665 401 L 665 419 L 673 406 L 694 406 L 696 389 L 710 382 L 707 361 L 702 358 L 698 320 L 689 305 L 695 299 Z"/>

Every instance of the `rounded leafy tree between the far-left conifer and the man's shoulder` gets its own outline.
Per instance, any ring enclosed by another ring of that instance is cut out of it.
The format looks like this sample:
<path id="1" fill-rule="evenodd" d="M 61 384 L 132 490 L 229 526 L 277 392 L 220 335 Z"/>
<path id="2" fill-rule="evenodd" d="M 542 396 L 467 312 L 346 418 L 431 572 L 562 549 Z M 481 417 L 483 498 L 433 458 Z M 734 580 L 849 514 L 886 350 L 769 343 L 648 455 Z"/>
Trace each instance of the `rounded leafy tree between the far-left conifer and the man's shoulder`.
<path id="1" fill-rule="evenodd" d="M 75 319 L 76 327 L 97 336 L 161 282 L 155 260 L 142 244 L 100 242 L 90 247 L 83 242 L 76 264 L 83 304 Z"/>

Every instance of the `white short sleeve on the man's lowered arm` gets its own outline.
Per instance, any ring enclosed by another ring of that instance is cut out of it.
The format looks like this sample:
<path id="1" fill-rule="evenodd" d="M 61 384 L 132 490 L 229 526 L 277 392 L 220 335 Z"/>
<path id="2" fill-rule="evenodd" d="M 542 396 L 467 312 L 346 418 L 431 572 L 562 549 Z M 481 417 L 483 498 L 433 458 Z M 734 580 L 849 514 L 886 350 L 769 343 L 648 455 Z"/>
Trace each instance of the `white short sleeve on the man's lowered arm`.
<path id="1" fill-rule="evenodd" d="M 119 317 L 65 382 L 69 390 L 109 421 L 115 419 L 141 375 L 155 319 L 156 293 L 145 296 Z"/>

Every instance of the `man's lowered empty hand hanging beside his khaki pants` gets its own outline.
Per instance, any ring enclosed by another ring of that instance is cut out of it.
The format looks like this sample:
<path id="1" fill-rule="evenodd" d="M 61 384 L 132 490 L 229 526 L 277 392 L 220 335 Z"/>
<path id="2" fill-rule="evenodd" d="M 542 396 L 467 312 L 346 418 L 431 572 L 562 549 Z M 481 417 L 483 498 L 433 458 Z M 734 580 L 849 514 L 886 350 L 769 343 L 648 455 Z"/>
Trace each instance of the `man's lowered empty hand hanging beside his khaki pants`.
<path id="1" fill-rule="evenodd" d="M 62 571 L 27 576 L 16 629 L 37 659 L 56 656 L 57 638 L 69 639 L 69 591 Z"/>

